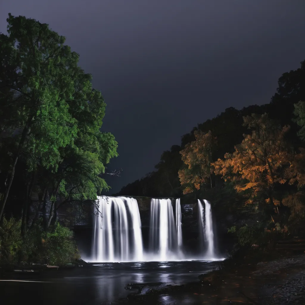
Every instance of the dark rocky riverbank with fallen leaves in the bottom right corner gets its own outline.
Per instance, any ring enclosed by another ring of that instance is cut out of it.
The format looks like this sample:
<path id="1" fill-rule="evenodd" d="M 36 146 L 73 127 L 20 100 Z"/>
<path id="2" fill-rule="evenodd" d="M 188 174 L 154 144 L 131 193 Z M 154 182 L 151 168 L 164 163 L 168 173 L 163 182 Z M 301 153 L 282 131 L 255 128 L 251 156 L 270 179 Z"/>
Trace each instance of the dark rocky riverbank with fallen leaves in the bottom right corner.
<path id="1" fill-rule="evenodd" d="M 303 241 L 282 242 L 268 251 L 252 249 L 197 282 L 160 289 L 145 284 L 129 287 L 138 293 L 119 304 L 305 304 Z"/>

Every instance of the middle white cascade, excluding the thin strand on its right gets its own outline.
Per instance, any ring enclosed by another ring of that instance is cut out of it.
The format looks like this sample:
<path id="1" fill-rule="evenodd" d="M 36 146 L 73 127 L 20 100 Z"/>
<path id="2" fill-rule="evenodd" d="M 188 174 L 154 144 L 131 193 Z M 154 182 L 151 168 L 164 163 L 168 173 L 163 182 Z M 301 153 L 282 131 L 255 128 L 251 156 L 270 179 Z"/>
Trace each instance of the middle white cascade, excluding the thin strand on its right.
<path id="1" fill-rule="evenodd" d="M 149 249 L 154 259 L 170 260 L 173 257 L 177 245 L 176 232 L 171 200 L 151 199 Z"/>

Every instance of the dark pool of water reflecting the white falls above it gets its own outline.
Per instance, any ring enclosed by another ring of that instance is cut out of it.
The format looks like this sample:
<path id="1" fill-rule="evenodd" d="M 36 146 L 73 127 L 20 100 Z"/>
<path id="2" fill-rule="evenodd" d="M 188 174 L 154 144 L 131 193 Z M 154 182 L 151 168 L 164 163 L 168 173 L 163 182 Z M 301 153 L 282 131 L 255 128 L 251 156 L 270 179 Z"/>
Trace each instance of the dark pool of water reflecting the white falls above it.
<path id="1" fill-rule="evenodd" d="M 129 283 L 162 287 L 197 282 L 198 275 L 220 265 L 215 261 L 95 263 L 63 270 L 8 273 L 0 281 L 1 303 L 111 304 L 137 292 L 125 289 Z"/>

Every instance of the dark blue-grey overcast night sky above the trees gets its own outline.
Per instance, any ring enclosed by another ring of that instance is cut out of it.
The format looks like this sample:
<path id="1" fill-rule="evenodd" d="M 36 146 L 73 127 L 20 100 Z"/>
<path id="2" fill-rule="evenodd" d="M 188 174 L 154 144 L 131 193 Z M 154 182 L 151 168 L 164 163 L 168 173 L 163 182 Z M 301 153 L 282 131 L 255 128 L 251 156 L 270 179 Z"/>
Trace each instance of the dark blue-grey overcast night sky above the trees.
<path id="1" fill-rule="evenodd" d="M 181 135 L 225 108 L 270 101 L 305 59 L 305 1 L 0 0 L 66 36 L 107 103 L 120 156 L 110 193 L 154 169 Z"/>

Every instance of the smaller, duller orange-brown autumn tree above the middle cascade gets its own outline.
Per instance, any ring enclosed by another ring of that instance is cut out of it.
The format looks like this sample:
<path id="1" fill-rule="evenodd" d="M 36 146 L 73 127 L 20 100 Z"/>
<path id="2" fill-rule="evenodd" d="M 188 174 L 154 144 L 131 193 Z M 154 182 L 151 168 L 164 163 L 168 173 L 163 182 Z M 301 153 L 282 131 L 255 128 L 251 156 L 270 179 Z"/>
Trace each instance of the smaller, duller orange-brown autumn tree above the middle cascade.
<path id="1" fill-rule="evenodd" d="M 212 187 L 211 163 L 217 139 L 211 131 L 194 131 L 194 135 L 195 141 L 186 144 L 180 152 L 182 161 L 188 166 L 178 172 L 181 185 L 185 186 L 183 194 L 199 190 L 202 185 L 208 183 Z"/>

